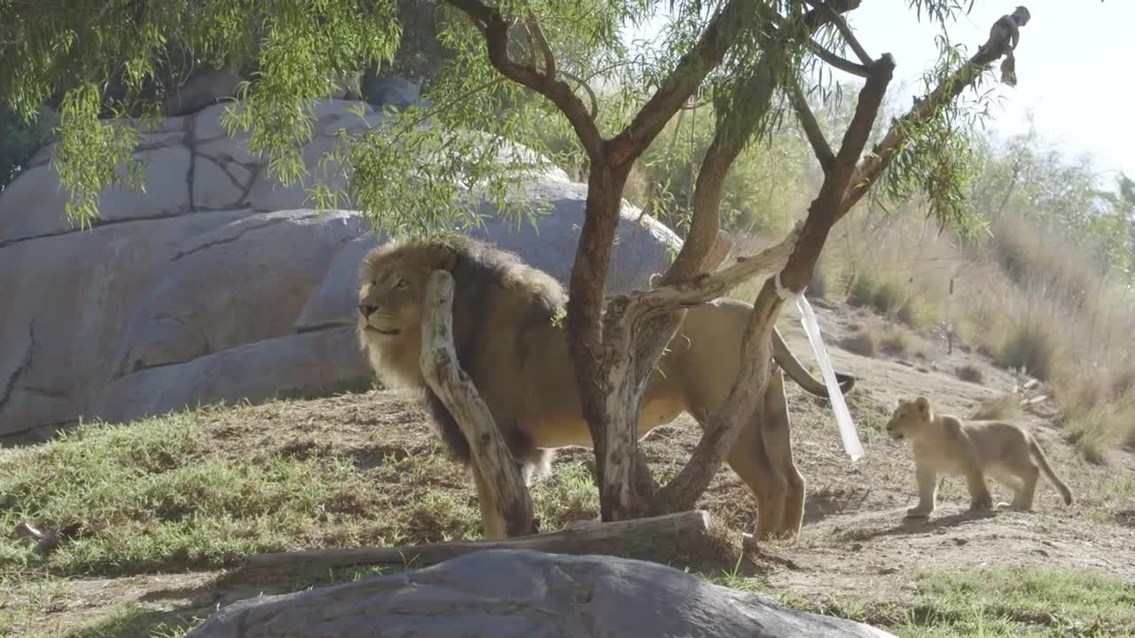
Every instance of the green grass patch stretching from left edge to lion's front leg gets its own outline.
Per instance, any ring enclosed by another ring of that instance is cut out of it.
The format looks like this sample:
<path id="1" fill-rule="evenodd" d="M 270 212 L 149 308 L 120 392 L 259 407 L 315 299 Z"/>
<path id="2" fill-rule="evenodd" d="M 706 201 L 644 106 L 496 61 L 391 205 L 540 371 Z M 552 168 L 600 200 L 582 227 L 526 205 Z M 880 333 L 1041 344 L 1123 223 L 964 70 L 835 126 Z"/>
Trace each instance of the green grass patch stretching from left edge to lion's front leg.
<path id="1" fill-rule="evenodd" d="M 210 412 L 84 425 L 0 452 L 0 528 L 78 530 L 47 557 L 5 535 L 0 570 L 118 576 L 230 565 L 257 552 L 479 536 L 472 490 L 439 454 L 360 468 L 320 450 L 226 452 L 207 431 Z"/>

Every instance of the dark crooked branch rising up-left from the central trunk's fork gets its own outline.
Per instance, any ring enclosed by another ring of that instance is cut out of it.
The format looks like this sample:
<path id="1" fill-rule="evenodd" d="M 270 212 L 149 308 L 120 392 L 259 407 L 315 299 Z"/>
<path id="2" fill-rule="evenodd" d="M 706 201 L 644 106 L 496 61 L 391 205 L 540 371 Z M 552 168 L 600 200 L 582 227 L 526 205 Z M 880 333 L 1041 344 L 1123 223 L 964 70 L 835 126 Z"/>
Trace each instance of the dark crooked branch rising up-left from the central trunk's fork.
<path id="1" fill-rule="evenodd" d="M 583 150 L 592 162 L 604 157 L 604 140 L 599 128 L 588 114 L 587 107 L 579 95 L 566 83 L 554 76 L 546 76 L 533 67 L 515 62 L 508 56 L 508 31 L 513 20 L 501 15 L 501 11 L 480 0 L 446 0 L 453 7 L 461 9 L 474 23 L 485 25 L 485 41 L 488 47 L 489 61 L 502 75 L 540 93 L 560 109 L 571 123 L 579 136 Z M 540 35 L 543 37 L 543 33 Z M 546 42 L 546 41 L 545 41 Z M 550 50 L 545 58 L 545 65 L 552 59 Z M 554 62 L 552 62 L 554 65 Z M 553 66 L 553 72 L 555 67 Z M 547 66 L 545 67 L 547 70 Z"/>

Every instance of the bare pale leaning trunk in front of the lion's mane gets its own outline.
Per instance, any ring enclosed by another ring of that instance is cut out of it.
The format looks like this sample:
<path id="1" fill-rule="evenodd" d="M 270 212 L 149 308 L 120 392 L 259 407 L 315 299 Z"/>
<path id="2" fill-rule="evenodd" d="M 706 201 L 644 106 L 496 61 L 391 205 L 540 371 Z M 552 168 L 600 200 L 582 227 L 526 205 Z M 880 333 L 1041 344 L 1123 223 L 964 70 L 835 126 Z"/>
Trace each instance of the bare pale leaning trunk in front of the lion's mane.
<path id="1" fill-rule="evenodd" d="M 469 440 L 470 468 L 481 506 L 486 538 L 533 534 L 532 501 L 516 461 L 501 436 L 493 413 L 453 346 L 453 276 L 430 274 L 422 305 L 422 377 L 453 414 Z"/>

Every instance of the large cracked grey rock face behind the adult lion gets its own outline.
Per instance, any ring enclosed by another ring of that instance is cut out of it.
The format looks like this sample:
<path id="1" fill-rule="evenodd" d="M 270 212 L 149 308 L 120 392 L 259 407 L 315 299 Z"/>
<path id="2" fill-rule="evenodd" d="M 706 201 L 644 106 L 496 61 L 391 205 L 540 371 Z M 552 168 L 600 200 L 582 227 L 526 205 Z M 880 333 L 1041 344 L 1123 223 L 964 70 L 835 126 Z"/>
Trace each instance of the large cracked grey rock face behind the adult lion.
<path id="1" fill-rule="evenodd" d="M 401 98 L 400 98 L 401 99 Z M 382 106 L 317 104 L 314 167 L 340 128 L 376 126 Z M 0 193 L 0 444 L 37 440 L 77 419 L 134 419 L 186 405 L 259 401 L 369 375 L 352 333 L 359 261 L 384 237 L 353 211 L 302 208 L 229 138 L 224 106 L 144 133 L 145 193 L 102 193 L 100 223 L 73 228 L 66 191 L 41 152 Z M 586 186 L 536 176 L 554 211 L 538 230 L 495 218 L 473 236 L 566 284 Z M 481 212 L 491 212 L 485 205 Z M 627 207 L 608 279 L 644 285 L 680 245 Z"/>

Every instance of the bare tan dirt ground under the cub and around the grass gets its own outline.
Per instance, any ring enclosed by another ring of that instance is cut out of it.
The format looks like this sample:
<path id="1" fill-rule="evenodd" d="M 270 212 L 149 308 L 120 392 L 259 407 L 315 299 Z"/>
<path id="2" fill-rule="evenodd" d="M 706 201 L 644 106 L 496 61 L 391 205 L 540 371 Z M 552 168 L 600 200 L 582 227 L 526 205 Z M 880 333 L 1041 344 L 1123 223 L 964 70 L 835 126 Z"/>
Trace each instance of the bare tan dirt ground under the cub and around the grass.
<path id="1" fill-rule="evenodd" d="M 808 501 L 800 538 L 763 545 L 751 556 L 771 589 L 817 599 L 902 604 L 911 601 L 911 582 L 919 570 L 1007 563 L 1090 568 L 1135 579 L 1135 490 L 1116 487 L 1117 481 L 1132 480 L 1135 455 L 1111 453 L 1105 465 L 1081 460 L 1052 423 L 1050 402 L 1037 404 L 1022 419 L 1041 437 L 1053 467 L 1070 486 L 1076 496 L 1071 506 L 1065 506 L 1054 488 L 1042 480 L 1035 513 L 967 515 L 964 481 L 951 478 L 940 490 L 940 509 L 931 520 L 903 521 L 915 498 L 909 444 L 891 442 L 880 429 L 894 400 L 923 394 L 942 411 L 968 415 L 981 400 L 1009 391 L 1014 381 L 976 355 L 956 351 L 947 356 L 945 344 L 930 337 L 915 349 L 924 351 L 923 356 L 852 354 L 836 344 L 857 326 L 878 319 L 818 305 L 816 312 L 835 367 L 859 379 L 848 401 L 866 457 L 851 464 L 827 401 L 787 381 L 796 457 L 808 481 Z M 813 361 L 798 320 L 789 316 L 781 325 L 793 351 Z M 955 367 L 966 362 L 982 368 L 982 385 L 957 378 Z M 378 462 L 387 454 L 431 448 L 435 436 L 426 413 L 412 401 L 384 392 L 274 403 L 242 410 L 238 419 L 226 413 L 216 419 L 211 429 L 219 445 L 234 455 L 334 445 L 338 453 L 365 464 L 368 459 Z M 653 464 L 673 465 L 684 461 L 699 434 L 696 423 L 683 417 L 656 430 L 644 448 Z M 557 464 L 589 456 L 589 451 L 565 451 Z M 1004 488 L 992 482 L 991 488 L 995 500 L 1008 500 Z M 756 520 L 754 500 L 726 468 L 699 506 L 738 532 L 751 530 Z M 235 599 L 293 586 L 271 578 L 234 580 L 224 571 L 81 580 L 59 597 L 50 622 L 68 626 L 124 602 L 200 618 Z"/>

